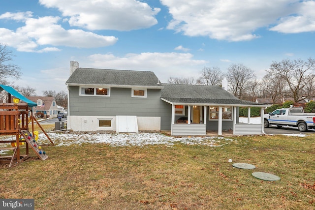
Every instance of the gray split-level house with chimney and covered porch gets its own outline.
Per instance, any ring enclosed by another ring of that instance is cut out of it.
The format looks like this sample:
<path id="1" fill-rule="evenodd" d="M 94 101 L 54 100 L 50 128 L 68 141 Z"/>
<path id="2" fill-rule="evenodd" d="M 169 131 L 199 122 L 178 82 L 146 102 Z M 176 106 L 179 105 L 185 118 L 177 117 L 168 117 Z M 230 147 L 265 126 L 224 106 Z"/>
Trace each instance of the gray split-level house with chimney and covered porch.
<path id="1" fill-rule="evenodd" d="M 68 127 L 74 131 L 170 130 L 205 135 L 207 130 L 263 134 L 259 124 L 238 123 L 239 107 L 268 105 L 240 100 L 218 86 L 162 84 L 151 71 L 79 68 L 71 61 Z M 250 115 L 249 115 L 250 116 Z M 137 130 L 137 129 L 135 129 Z M 124 131 L 123 131 L 124 132 Z M 136 132 L 136 131 L 135 131 Z"/>

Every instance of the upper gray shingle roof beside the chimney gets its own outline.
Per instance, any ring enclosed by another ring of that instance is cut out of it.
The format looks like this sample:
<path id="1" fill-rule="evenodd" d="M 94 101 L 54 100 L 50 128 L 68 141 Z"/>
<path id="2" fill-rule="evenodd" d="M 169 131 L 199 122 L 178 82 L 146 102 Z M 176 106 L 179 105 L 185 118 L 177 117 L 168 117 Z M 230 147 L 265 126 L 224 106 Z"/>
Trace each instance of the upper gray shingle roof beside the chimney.
<path id="1" fill-rule="evenodd" d="M 162 87 L 152 71 L 77 68 L 66 84 Z"/>

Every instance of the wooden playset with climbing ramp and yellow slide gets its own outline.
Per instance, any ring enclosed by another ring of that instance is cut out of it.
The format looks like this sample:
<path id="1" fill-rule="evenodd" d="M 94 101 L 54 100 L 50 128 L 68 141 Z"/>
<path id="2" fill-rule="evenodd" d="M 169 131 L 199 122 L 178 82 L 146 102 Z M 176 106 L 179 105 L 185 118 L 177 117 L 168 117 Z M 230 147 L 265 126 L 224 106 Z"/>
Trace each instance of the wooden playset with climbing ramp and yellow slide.
<path id="1" fill-rule="evenodd" d="M 8 95 L 11 101 L 11 94 Z M 38 131 L 34 131 L 34 121 L 54 145 L 45 130 L 39 122 L 33 117 L 32 109 L 28 103 L 19 103 L 19 99 L 13 98 L 14 103 L 0 103 L 0 135 L 12 135 L 12 140 L 0 141 L 0 143 L 11 143 L 11 147 L 1 148 L 0 150 L 13 150 L 12 155 L 0 154 L 0 163 L 9 164 L 20 163 L 29 158 L 29 147 L 41 159 L 48 158 L 46 152 L 38 145 Z M 32 133 L 29 130 L 29 124 L 32 123 Z M 15 139 L 14 137 L 15 136 Z M 26 154 L 21 154 L 20 147 L 26 144 Z"/>

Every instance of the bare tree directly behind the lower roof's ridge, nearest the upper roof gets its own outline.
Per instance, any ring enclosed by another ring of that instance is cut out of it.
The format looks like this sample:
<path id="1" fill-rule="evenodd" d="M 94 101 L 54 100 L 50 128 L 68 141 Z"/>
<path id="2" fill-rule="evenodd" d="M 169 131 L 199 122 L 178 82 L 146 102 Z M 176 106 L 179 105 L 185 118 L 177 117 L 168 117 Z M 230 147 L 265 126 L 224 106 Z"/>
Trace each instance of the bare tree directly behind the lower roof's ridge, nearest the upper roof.
<path id="1" fill-rule="evenodd" d="M 204 67 L 200 74 L 197 84 L 207 86 L 222 85 L 223 73 L 219 67 Z"/>

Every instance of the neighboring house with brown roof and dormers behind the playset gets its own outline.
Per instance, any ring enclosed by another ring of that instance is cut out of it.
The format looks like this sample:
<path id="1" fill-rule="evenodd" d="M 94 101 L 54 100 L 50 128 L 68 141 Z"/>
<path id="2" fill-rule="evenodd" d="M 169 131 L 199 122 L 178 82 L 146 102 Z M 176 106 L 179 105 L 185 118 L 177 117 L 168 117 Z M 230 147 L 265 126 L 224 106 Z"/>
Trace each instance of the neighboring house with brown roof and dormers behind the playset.
<path id="1" fill-rule="evenodd" d="M 43 113 L 47 118 L 57 118 L 58 106 L 54 97 L 44 96 L 27 96 L 31 101 L 36 102 L 37 106 L 33 107 L 33 116 L 39 116 L 38 113 Z"/>

